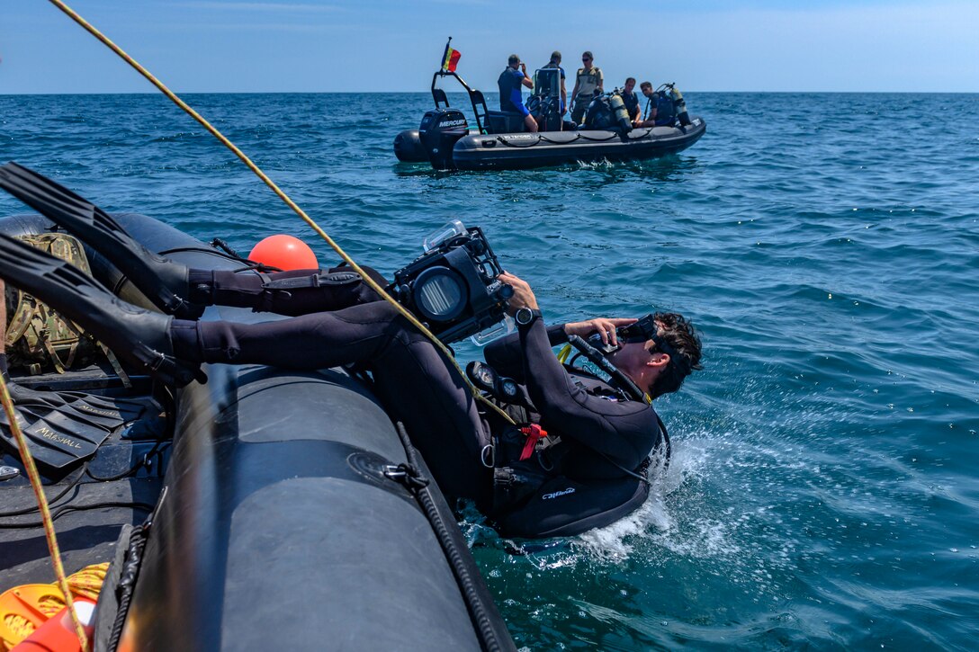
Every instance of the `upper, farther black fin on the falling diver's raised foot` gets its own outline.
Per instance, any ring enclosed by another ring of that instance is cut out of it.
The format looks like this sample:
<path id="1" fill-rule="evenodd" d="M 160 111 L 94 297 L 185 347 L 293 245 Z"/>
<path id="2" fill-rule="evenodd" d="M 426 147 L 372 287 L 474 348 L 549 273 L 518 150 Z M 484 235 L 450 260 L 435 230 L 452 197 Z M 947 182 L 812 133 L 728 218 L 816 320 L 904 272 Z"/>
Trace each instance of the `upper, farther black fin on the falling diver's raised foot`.
<path id="1" fill-rule="evenodd" d="M 187 267 L 133 240 L 105 210 L 18 163 L 0 166 L 0 188 L 106 256 L 163 312 L 183 318 L 201 316 L 203 306 L 186 301 Z"/>

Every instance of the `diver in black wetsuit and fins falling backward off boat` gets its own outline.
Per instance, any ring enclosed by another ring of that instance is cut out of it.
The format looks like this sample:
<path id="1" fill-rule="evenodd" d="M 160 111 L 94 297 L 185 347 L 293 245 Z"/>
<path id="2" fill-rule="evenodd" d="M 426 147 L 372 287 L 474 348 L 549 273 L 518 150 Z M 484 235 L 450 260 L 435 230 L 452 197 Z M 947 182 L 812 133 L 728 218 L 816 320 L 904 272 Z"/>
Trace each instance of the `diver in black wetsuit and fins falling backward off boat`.
<path id="1" fill-rule="evenodd" d="M 108 214 L 67 189 L 12 165 L 0 168 L 0 186 L 98 249 L 167 312 L 194 316 L 201 306 L 219 303 L 297 316 L 243 324 L 142 310 L 73 273 L 67 262 L 10 238 L 0 239 L 0 276 L 63 310 L 118 354 L 178 383 L 200 378 L 203 362 L 302 370 L 365 363 L 378 395 L 405 423 L 443 491 L 494 511 L 506 507 L 493 504 L 494 473 L 485 463 L 497 433 L 463 379 L 356 274 L 343 268 L 271 275 L 189 269 L 147 251 Z M 569 375 L 551 346 L 593 333 L 603 343 L 619 344 L 616 329 L 636 320 L 599 318 L 548 329 L 530 285 L 511 274 L 499 278 L 514 288 L 509 307 L 519 332 L 491 344 L 487 359 L 526 384 L 536 421 L 561 437 L 543 475 L 581 481 L 635 475 L 664 437 L 655 412 L 598 379 Z M 700 361 L 699 340 L 682 317 L 657 315 L 655 328 L 655 339 L 623 344 L 611 358 L 653 398 L 676 391 Z M 498 467 L 512 460 L 496 461 Z"/>

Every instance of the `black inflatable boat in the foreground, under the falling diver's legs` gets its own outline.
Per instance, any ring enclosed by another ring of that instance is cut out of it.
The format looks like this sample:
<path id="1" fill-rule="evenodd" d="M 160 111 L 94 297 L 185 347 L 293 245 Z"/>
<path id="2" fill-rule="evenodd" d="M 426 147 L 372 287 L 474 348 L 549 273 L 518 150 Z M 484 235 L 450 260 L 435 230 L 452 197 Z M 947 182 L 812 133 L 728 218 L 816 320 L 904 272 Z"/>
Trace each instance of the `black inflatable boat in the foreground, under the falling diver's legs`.
<path id="1" fill-rule="evenodd" d="M 115 216 L 185 264 L 240 267 L 157 220 Z M 24 216 L 0 230 L 53 226 Z M 107 287 L 150 306 L 87 256 Z M 89 454 L 41 467 L 66 570 L 113 562 L 95 650 L 514 649 L 439 489 L 399 481 L 407 463 L 430 476 L 365 386 L 337 370 L 206 371 L 207 384 L 169 397 L 146 377 L 124 387 L 108 364 L 15 374 L 41 393 L 148 401 Z M 0 453 L 2 592 L 52 578 L 23 465 L 8 444 Z"/>

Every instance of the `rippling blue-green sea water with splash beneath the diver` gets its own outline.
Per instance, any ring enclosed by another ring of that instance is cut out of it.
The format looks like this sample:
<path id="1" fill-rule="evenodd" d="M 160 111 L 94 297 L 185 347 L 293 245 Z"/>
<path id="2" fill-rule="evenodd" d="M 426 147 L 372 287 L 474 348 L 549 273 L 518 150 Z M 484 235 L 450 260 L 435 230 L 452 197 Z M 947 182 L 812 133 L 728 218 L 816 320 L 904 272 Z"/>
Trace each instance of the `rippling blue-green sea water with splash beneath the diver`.
<path id="1" fill-rule="evenodd" d="M 459 217 L 548 320 L 700 327 L 636 514 L 523 549 L 463 522 L 519 646 L 975 649 L 979 96 L 689 93 L 679 155 L 479 173 L 396 162 L 425 94 L 186 99 L 360 262 Z M 245 253 L 314 242 L 161 96 L 0 96 L 0 160 Z"/>

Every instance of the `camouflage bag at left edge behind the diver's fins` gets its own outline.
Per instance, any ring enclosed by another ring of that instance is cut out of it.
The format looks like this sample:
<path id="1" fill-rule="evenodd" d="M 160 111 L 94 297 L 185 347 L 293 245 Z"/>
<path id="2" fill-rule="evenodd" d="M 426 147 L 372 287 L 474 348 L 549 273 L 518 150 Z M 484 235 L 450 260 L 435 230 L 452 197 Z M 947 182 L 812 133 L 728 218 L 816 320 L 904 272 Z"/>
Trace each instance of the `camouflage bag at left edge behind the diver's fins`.
<path id="1" fill-rule="evenodd" d="M 72 236 L 44 233 L 20 239 L 92 275 L 85 250 Z M 7 286 L 6 302 L 7 358 L 12 368 L 23 368 L 30 375 L 52 369 L 63 374 L 92 364 L 103 350 L 95 338 L 68 317 L 18 288 Z"/>

